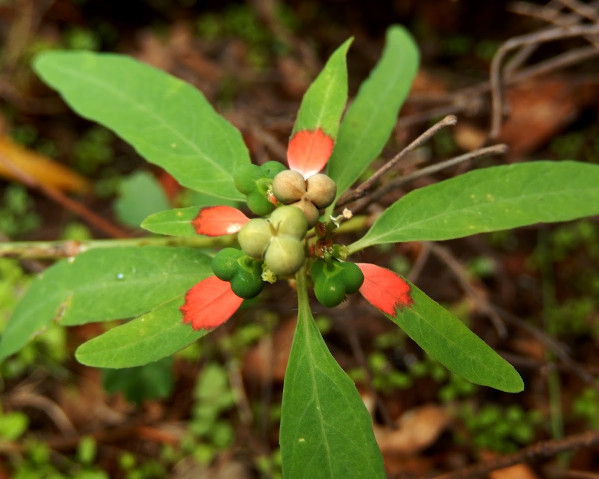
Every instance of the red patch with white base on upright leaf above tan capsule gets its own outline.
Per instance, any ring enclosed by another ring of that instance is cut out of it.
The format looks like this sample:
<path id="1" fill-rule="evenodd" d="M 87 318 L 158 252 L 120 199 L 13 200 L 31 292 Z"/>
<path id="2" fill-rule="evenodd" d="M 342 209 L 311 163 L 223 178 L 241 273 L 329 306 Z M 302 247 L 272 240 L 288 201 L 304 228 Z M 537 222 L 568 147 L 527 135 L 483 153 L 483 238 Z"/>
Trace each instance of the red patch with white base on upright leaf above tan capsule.
<path id="1" fill-rule="evenodd" d="M 333 139 L 322 129 L 298 131 L 289 141 L 287 162 L 293 169 L 309 178 L 325 167 L 333 151 Z"/>

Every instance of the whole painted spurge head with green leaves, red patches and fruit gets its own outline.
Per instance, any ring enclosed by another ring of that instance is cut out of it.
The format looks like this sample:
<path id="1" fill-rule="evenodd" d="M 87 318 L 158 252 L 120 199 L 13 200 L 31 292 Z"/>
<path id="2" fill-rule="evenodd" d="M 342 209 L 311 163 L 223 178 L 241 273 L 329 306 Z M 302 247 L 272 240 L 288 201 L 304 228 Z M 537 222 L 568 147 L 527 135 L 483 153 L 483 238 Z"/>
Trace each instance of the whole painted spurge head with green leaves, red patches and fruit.
<path id="1" fill-rule="evenodd" d="M 222 325 L 269 283 L 294 278 L 298 323 L 280 425 L 286 479 L 385 477 L 371 418 L 314 323 L 309 289 L 325 307 L 359 292 L 451 371 L 521 391 L 518 372 L 449 311 L 395 272 L 352 262 L 353 255 L 377 244 L 599 214 L 599 166 L 562 160 L 474 169 L 407 193 L 364 236 L 340 244 L 337 230 L 352 213 L 335 204 L 382 151 L 418 66 L 410 35 L 390 28 L 382 57 L 346 110 L 349 45 L 334 51 L 305 93 L 288 164 L 261 166 L 252 164 L 240 132 L 183 81 L 114 54 L 40 54 L 35 70 L 81 116 L 112 129 L 181 185 L 216 198 L 211 204 L 245 203 L 251 218 L 228 204 L 164 211 L 142 226 L 170 237 L 135 247 L 107 241 L 55 263 L 14 311 L 0 359 L 52 321 L 128 319 L 82 344 L 76 357 L 102 368 L 144 365 Z M 202 251 L 220 236 L 229 247 L 213 256 Z"/>

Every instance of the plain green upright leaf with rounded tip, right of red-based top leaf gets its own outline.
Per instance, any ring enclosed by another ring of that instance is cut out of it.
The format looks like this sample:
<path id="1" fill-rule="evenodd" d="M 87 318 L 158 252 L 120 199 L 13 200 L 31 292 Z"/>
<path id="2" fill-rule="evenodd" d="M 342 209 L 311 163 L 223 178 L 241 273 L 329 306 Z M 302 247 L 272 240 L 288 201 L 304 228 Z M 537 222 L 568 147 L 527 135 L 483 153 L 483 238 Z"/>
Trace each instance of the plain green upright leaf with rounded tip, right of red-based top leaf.
<path id="1" fill-rule="evenodd" d="M 387 143 L 412 86 L 418 62 L 418 47 L 410 34 L 401 26 L 391 26 L 379 62 L 347 108 L 328 162 L 326 173 L 337 183 L 337 198 L 352 186 Z M 333 205 L 328 211 L 332 211 Z"/>

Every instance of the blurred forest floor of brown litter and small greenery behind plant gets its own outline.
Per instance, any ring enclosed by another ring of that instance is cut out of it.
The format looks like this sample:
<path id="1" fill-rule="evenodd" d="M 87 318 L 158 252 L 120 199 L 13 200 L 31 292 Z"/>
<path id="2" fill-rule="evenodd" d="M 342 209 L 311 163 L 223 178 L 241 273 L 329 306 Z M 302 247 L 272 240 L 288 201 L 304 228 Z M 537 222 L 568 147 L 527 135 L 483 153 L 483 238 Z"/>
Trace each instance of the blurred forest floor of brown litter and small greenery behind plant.
<path id="1" fill-rule="evenodd" d="M 544 41 L 564 22 L 570 34 Z M 164 69 L 201 90 L 261 164 L 285 161 L 302 94 L 334 48 L 354 37 L 351 98 L 394 23 L 415 36 L 421 66 L 377 163 L 447 114 L 457 125 L 394 175 L 482 146 L 508 150 L 420 177 L 363 213 L 375 217 L 409 190 L 479 166 L 599 162 L 597 2 L 15 0 L 0 4 L 0 241 L 141 237 L 147 208 L 202 201 L 69 110 L 35 77 L 35 53 L 114 51 Z M 514 38 L 524 40 L 493 77 L 493 59 Z M 503 86 L 503 107 L 492 82 Z M 24 177 L 6 166 L 35 154 L 90 188 L 52 194 L 51 175 Z M 331 310 L 314 302 L 331 353 L 373 413 L 390 478 L 599 478 L 597 217 L 370 248 L 361 260 L 410 278 L 526 385 L 510 395 L 461 380 L 362 299 Z M 0 331 L 50 263 L 0 257 Z M 289 287 L 277 283 L 145 382 L 138 371 L 75 361 L 75 348 L 104 326 L 53 326 L 0 365 L 0 479 L 281 477 L 280 399 L 295 307 Z M 481 468 L 464 469 L 471 465 Z"/>

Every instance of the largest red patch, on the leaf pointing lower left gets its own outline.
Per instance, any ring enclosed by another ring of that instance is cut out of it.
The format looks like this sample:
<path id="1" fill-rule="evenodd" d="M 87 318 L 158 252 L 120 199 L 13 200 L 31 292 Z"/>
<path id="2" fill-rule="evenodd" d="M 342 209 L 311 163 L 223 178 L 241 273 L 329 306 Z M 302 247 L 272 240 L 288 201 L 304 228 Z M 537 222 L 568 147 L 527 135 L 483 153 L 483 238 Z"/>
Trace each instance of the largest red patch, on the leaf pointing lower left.
<path id="1" fill-rule="evenodd" d="M 242 302 L 228 281 L 211 276 L 187 291 L 180 311 L 183 323 L 190 323 L 193 329 L 213 329 L 233 316 Z"/>

